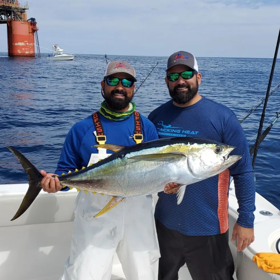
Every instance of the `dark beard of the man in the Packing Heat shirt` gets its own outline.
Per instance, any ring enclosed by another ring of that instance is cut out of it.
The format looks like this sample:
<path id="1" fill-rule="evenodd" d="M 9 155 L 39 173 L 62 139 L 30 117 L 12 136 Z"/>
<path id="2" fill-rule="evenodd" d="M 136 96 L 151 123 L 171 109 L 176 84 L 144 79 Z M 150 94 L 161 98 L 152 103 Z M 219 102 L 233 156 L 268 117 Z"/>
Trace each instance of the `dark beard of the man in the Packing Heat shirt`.
<path id="1" fill-rule="evenodd" d="M 185 90 L 178 91 L 178 89 L 184 88 Z M 172 100 L 178 104 L 185 104 L 189 102 L 198 92 L 198 81 L 196 81 L 196 85 L 191 87 L 187 84 L 177 85 L 173 89 L 169 89 L 169 95 L 171 96 Z"/>

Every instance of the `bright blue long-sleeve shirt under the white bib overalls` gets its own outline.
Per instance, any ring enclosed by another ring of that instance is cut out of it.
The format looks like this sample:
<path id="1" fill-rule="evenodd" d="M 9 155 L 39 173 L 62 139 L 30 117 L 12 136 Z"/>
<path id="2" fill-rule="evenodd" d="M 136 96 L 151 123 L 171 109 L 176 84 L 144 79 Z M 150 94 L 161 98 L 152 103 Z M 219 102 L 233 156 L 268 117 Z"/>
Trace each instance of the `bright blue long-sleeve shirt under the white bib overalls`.
<path id="1" fill-rule="evenodd" d="M 135 145 L 134 136 L 134 115 L 132 114 L 128 119 L 116 122 L 103 117 L 101 114 L 100 121 L 103 126 L 104 134 L 107 141 L 105 144 L 115 144 L 122 146 Z M 142 124 L 143 141 L 150 141 L 158 139 L 156 128 L 148 118 L 140 114 Z M 91 154 L 97 154 L 97 148 L 92 147 L 97 145 L 96 137 L 93 134 L 95 127 L 93 124 L 92 116 L 88 116 L 74 124 L 68 132 L 60 159 L 57 164 L 55 173 L 61 175 L 68 173 L 68 171 L 75 171 L 87 166 Z M 107 150 L 107 154 L 113 154 L 113 151 Z M 67 187 L 64 191 L 68 191 Z"/>

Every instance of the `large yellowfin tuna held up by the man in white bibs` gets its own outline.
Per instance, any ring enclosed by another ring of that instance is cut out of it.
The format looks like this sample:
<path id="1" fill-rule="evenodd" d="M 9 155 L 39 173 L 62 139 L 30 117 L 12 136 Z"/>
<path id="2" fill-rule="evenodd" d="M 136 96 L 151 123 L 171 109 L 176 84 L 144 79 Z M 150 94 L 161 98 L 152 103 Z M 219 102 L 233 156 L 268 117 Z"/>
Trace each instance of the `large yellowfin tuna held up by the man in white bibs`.
<path id="1" fill-rule="evenodd" d="M 58 179 L 70 188 L 111 195 L 111 201 L 96 216 L 109 211 L 125 197 L 163 191 L 169 182 L 181 185 L 177 192 L 179 204 L 187 185 L 217 175 L 241 158 L 229 156 L 235 147 L 202 138 L 162 138 L 128 147 L 95 146 L 113 150 L 115 154 Z M 15 220 L 41 191 L 42 175 L 19 151 L 7 148 L 18 158 L 29 178 L 29 188 L 12 219 Z"/>

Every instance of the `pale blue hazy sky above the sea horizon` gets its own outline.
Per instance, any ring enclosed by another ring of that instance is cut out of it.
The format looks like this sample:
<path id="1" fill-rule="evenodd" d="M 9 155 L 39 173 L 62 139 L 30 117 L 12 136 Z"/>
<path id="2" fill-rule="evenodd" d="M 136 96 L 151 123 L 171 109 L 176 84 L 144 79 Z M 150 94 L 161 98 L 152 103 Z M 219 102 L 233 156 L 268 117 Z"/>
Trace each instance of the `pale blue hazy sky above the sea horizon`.
<path id="1" fill-rule="evenodd" d="M 24 4 L 24 1 L 20 1 Z M 273 58 L 280 0 L 28 0 L 41 47 L 68 53 Z M 0 24 L 5 38 L 6 24 Z M 0 52 L 7 41 L 0 40 Z M 49 52 L 41 48 L 41 52 Z"/>

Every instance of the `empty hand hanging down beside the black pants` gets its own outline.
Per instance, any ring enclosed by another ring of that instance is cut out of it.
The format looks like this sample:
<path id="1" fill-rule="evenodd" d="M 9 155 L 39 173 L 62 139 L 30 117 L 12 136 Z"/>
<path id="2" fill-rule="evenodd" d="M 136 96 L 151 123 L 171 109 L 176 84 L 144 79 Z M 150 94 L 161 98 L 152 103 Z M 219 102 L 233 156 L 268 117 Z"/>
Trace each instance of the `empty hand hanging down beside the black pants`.
<path id="1" fill-rule="evenodd" d="M 244 228 L 238 223 L 235 223 L 232 232 L 231 241 L 236 240 L 237 237 L 237 251 L 242 251 L 254 242 L 254 228 Z"/>

